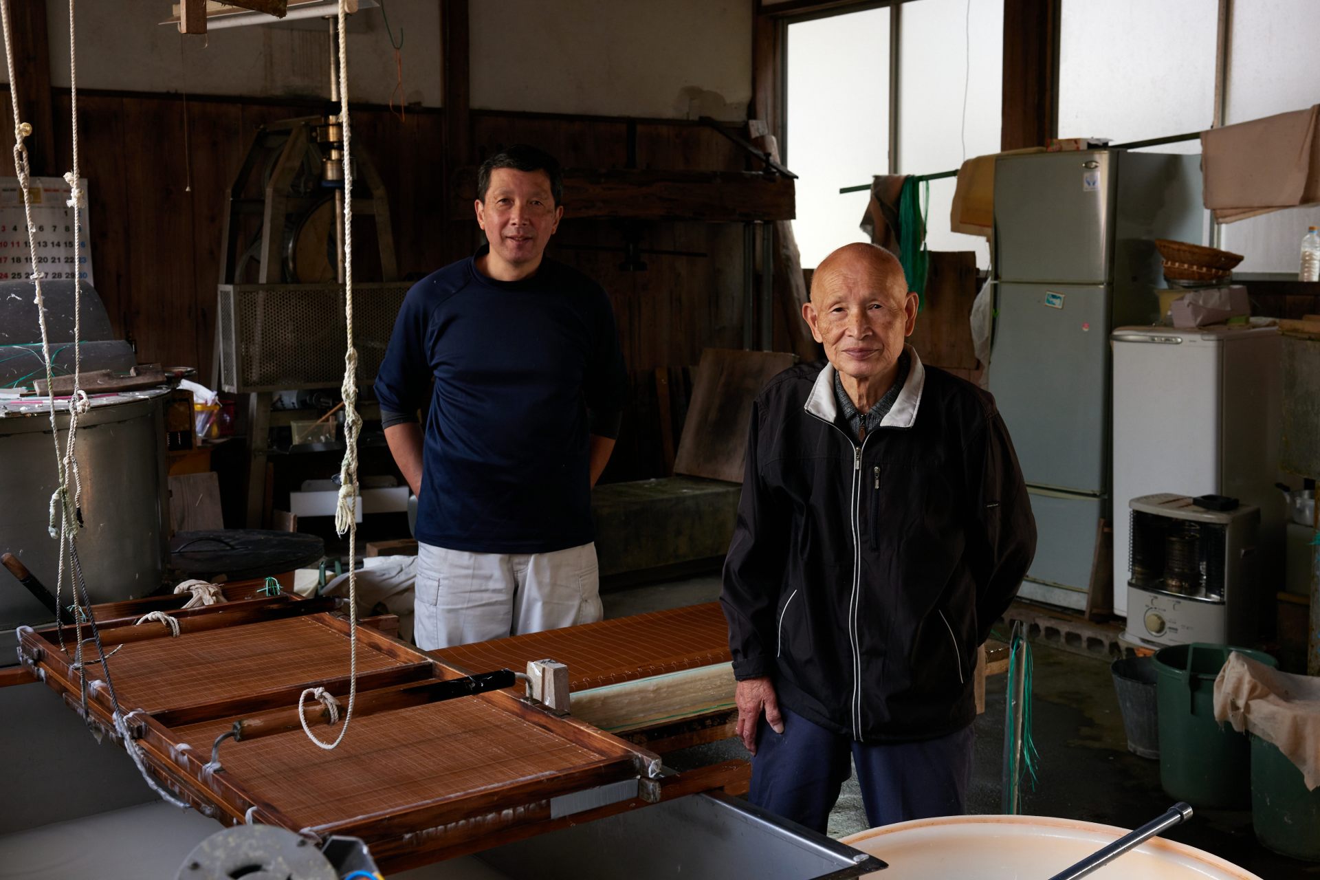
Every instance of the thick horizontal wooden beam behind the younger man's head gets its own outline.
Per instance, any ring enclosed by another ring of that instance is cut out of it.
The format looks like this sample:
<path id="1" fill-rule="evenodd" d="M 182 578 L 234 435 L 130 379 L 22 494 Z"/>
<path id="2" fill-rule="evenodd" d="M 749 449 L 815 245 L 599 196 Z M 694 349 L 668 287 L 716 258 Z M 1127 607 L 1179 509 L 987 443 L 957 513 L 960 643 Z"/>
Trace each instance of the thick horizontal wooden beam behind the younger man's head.
<path id="1" fill-rule="evenodd" d="M 450 219 L 467 220 L 477 197 L 477 169 L 459 169 L 454 178 Z M 564 170 L 565 218 L 578 220 L 791 220 L 793 194 L 793 181 L 750 172 Z"/>

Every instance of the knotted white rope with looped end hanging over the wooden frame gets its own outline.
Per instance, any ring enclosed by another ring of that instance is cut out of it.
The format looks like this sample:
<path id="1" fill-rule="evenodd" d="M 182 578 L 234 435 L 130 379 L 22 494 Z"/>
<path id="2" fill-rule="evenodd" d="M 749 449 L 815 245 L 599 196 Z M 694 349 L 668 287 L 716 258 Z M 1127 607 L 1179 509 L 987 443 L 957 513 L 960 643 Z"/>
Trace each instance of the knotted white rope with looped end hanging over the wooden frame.
<path id="1" fill-rule="evenodd" d="M 345 450 L 343 464 L 339 467 L 339 503 L 335 508 L 334 524 L 335 532 L 341 537 L 345 532 L 348 533 L 348 708 L 343 716 L 343 727 L 339 728 L 339 735 L 333 743 L 321 740 L 308 727 L 302 705 L 308 694 L 314 694 L 315 689 L 309 687 L 298 695 L 298 720 L 302 723 L 302 732 L 323 749 L 335 748 L 343 741 L 343 735 L 348 732 L 348 722 L 352 720 L 352 705 L 358 698 L 356 503 L 358 431 L 362 429 L 362 417 L 358 416 L 358 350 L 352 347 L 352 162 L 348 149 L 351 129 L 348 125 L 348 29 L 346 25 L 345 0 L 339 0 L 339 131 L 343 132 L 343 216 L 341 223 L 343 223 L 343 318 L 348 344 L 343 354 L 343 384 L 339 388 L 343 393 Z M 330 723 L 334 724 L 334 720 Z"/>

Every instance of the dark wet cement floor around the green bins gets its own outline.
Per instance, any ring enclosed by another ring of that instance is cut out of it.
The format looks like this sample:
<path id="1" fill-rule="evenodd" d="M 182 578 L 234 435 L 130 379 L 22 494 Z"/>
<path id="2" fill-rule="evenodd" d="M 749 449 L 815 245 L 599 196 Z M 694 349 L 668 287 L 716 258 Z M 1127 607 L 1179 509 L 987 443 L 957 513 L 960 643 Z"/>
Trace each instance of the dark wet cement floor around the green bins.
<path id="1" fill-rule="evenodd" d="M 606 616 L 657 611 L 719 595 L 718 577 L 689 578 L 643 587 L 606 591 Z M 1107 662 L 1048 645 L 1034 645 L 1032 718 L 1039 753 L 1035 789 L 1022 798 L 1022 813 L 1053 815 L 1134 829 L 1172 806 L 1159 782 L 1159 761 L 1127 751 L 1127 738 Z M 1002 813 L 1005 677 L 987 682 L 986 711 L 975 722 L 975 755 L 969 813 Z M 737 740 L 668 760 L 684 764 L 710 759 L 746 757 Z M 855 778 L 843 786 L 830 814 L 830 836 L 869 827 Z M 1320 864 L 1288 859 L 1257 843 L 1249 810 L 1201 809 L 1191 822 L 1164 836 L 1212 852 L 1266 880 L 1320 877 Z"/>

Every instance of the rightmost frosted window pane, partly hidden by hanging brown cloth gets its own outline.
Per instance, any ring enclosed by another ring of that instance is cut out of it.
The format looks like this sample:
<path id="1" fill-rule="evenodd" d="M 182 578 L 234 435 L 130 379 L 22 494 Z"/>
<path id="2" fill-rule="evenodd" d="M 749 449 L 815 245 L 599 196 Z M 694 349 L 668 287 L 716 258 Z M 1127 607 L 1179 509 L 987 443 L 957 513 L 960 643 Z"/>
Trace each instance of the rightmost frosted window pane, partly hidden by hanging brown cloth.
<path id="1" fill-rule="evenodd" d="M 1245 123 L 1320 103 L 1320 9 L 1315 0 L 1233 4 L 1225 123 Z M 1296 274 L 1302 236 L 1320 207 L 1226 223 L 1220 247 L 1243 255 L 1239 272 Z"/>

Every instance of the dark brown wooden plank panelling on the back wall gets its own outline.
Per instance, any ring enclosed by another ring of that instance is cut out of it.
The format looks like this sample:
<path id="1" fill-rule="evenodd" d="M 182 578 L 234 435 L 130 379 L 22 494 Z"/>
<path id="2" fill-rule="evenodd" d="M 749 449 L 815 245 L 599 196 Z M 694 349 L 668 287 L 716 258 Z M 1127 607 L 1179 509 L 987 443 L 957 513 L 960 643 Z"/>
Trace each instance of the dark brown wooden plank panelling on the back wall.
<path id="1" fill-rule="evenodd" d="M 8 95 L 0 95 L 8 112 Z M 189 100 L 186 153 L 183 102 L 173 96 L 83 92 L 79 111 L 96 289 L 111 321 L 137 346 L 139 360 L 194 365 L 202 381 L 210 381 L 220 223 L 228 189 L 257 125 L 313 115 L 317 108 Z M 67 92 L 57 92 L 54 116 L 58 168 L 67 169 Z M 352 121 L 354 145 L 371 153 L 389 193 L 400 272 L 420 277 L 471 253 L 478 241 L 475 222 L 444 219 L 444 115 L 409 111 L 399 119 L 384 108 L 355 108 Z M 0 125 L 0 144 L 12 144 L 8 129 Z M 700 125 L 645 120 L 636 123 L 635 131 L 642 168 L 747 168 L 746 156 L 734 144 Z M 473 139 L 480 156 L 525 141 L 549 149 L 570 168 L 622 168 L 628 124 L 483 111 L 473 117 Z M 9 173 L 0 170 L 0 175 Z M 660 475 L 664 456 L 655 369 L 681 375 L 697 364 L 706 347 L 741 346 L 742 226 L 573 220 L 572 206 L 568 208 L 569 219 L 552 253 L 597 278 L 610 293 L 636 391 L 607 479 Z M 619 264 L 626 235 L 636 235 L 644 249 L 706 256 L 643 253 L 648 268 L 624 272 Z M 363 259 L 355 268 L 368 263 L 374 260 Z M 366 280 L 360 272 L 356 277 Z"/>

